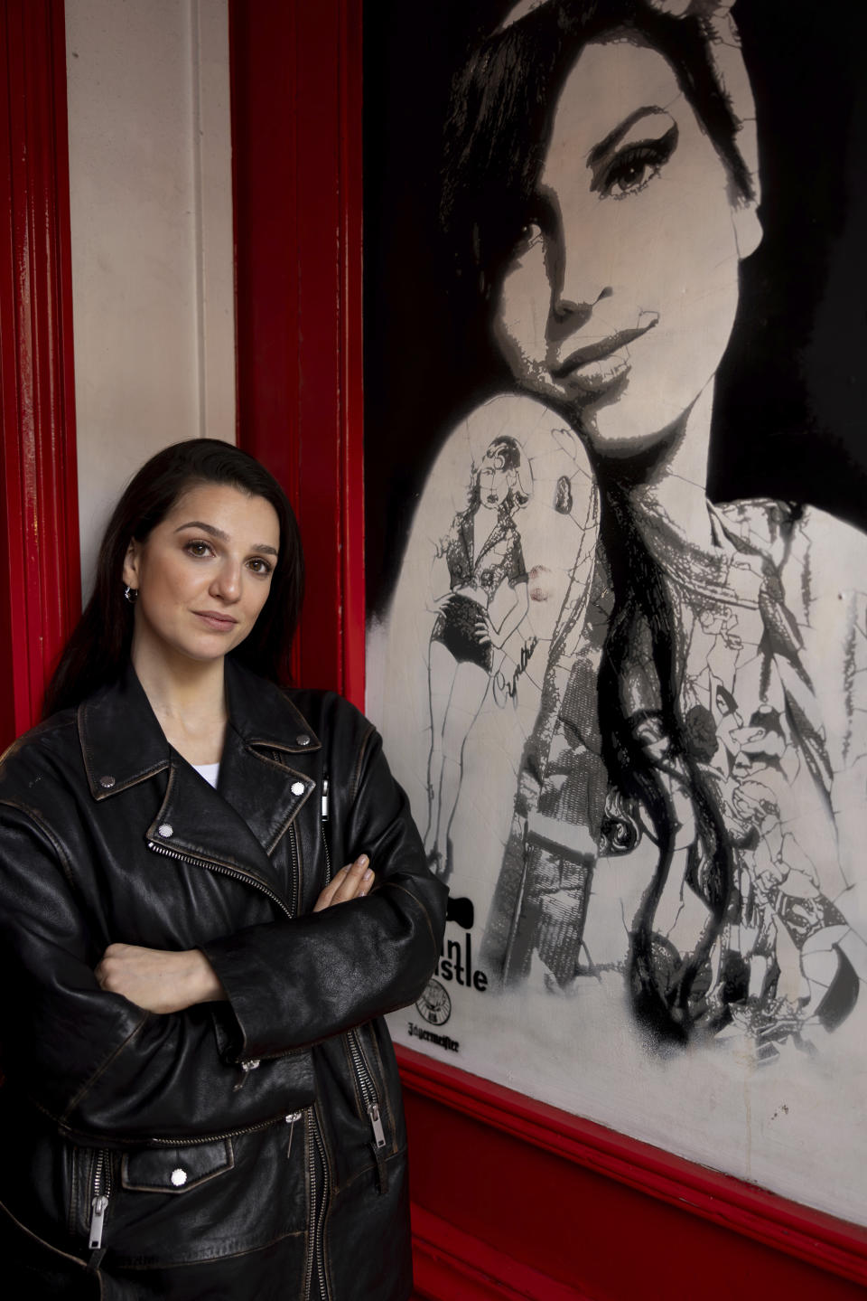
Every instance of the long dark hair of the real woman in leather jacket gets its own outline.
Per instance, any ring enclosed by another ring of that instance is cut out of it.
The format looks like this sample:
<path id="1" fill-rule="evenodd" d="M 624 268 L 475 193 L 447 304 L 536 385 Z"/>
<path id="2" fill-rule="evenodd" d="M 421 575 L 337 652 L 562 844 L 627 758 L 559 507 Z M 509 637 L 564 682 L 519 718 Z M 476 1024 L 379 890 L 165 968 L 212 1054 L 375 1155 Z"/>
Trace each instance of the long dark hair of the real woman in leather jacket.
<path id="1" fill-rule="evenodd" d="M 133 539 L 143 543 L 196 484 L 238 488 L 264 497 L 277 511 L 279 556 L 268 600 L 250 636 L 230 654 L 263 678 L 287 680 L 304 596 L 304 554 L 295 513 L 277 480 L 253 457 L 218 438 L 191 438 L 151 457 L 114 507 L 99 548 L 94 595 L 48 683 L 44 717 L 77 705 L 120 677 L 133 643 L 133 606 L 125 600 L 122 579 L 127 548 Z"/>

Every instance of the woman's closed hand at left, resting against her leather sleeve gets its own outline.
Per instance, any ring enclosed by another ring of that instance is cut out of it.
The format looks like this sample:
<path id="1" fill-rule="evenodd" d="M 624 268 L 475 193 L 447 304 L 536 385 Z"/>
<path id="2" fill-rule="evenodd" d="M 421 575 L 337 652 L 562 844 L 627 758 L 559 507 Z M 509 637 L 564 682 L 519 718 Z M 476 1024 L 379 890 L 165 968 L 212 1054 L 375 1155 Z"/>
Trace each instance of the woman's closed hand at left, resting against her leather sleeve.
<path id="1" fill-rule="evenodd" d="M 226 998 L 213 967 L 199 948 L 178 952 L 109 945 L 95 976 L 101 989 L 122 994 L 146 1012 L 159 1015 Z"/>

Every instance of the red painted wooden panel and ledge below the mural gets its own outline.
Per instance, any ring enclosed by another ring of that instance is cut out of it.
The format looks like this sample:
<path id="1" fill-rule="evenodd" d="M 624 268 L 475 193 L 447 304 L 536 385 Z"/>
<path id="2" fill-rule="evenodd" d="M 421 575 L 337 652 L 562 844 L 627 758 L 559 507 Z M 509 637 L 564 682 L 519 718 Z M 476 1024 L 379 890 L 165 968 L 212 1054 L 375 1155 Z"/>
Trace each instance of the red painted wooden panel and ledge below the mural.
<path id="1" fill-rule="evenodd" d="M 649 1294 L 647 1271 L 667 1296 L 697 1294 L 701 1276 L 705 1301 L 733 1287 L 742 1298 L 864 1294 L 866 1228 L 407 1049 L 399 1059 L 422 1294 L 632 1301 Z M 515 1288 L 513 1261 L 530 1291 L 478 1291 L 478 1276 Z"/>

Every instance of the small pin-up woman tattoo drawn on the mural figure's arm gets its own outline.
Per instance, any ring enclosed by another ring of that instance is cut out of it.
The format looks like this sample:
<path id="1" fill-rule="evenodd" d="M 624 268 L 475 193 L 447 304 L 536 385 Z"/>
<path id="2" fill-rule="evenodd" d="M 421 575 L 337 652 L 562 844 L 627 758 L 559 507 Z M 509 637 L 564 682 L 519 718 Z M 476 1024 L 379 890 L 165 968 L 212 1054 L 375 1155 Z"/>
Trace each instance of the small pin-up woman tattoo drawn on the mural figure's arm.
<path id="1" fill-rule="evenodd" d="M 526 477 L 526 470 L 524 470 Z M 529 501 L 515 438 L 494 438 L 473 477 L 467 510 L 441 540 L 437 559 L 448 591 L 438 597 L 430 634 L 430 757 L 428 760 L 428 861 L 451 877 L 450 829 L 460 799 L 467 736 L 478 717 L 500 649 L 528 611 L 526 569 L 515 514 Z M 506 608 L 494 609 L 508 588 Z M 443 857 L 442 847 L 446 853 Z"/>

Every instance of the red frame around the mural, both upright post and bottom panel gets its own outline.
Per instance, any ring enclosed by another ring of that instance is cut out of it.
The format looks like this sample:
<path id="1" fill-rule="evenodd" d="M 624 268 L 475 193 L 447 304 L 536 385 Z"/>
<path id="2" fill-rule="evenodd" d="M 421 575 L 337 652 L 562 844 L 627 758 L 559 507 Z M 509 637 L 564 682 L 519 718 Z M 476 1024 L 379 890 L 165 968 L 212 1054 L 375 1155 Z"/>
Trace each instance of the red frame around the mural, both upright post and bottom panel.
<path id="1" fill-rule="evenodd" d="M 296 670 L 363 705 L 361 0 L 230 0 L 238 441 L 296 503 Z M 867 1229 L 407 1050 L 419 1294 L 855 1297 Z"/>

